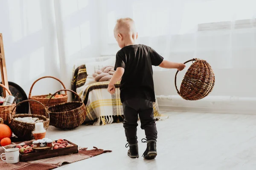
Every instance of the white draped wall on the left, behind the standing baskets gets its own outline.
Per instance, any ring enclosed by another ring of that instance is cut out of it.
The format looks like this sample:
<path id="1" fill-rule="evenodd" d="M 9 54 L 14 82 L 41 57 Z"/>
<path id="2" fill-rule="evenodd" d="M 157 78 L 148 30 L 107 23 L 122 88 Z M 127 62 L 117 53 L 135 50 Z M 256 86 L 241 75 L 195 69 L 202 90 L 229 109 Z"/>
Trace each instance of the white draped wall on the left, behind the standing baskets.
<path id="1" fill-rule="evenodd" d="M 27 95 L 35 79 L 48 75 L 70 88 L 76 60 L 100 55 L 98 5 L 97 0 L 0 0 L 8 80 Z M 43 79 L 32 95 L 60 88 Z"/>

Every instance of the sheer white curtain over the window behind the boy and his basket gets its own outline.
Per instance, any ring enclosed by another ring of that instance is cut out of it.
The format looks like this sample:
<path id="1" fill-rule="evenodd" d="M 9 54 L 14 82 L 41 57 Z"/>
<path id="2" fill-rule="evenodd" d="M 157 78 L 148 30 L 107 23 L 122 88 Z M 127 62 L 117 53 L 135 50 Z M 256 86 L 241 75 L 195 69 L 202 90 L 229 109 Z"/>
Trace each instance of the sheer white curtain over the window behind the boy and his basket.
<path id="1" fill-rule="evenodd" d="M 138 42 L 174 62 L 207 60 L 215 71 L 211 96 L 255 97 L 255 0 L 101 1 L 102 55 L 119 50 L 113 38 L 116 19 L 135 20 Z M 107 22 L 106 22 L 107 21 Z M 106 29 L 108 28 L 108 29 Z M 177 95 L 175 71 L 155 68 L 158 95 Z M 179 73 L 179 82 L 183 73 Z"/>

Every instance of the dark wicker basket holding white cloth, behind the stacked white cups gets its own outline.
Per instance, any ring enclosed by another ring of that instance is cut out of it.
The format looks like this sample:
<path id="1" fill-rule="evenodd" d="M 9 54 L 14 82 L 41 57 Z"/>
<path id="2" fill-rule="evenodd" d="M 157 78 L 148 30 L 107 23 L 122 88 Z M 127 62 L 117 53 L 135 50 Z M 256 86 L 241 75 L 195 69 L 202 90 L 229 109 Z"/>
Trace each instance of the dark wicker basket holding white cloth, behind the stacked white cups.
<path id="1" fill-rule="evenodd" d="M 49 122 L 50 122 L 50 119 L 49 119 L 49 113 L 47 111 L 47 109 L 45 108 L 45 106 L 36 101 L 36 100 L 24 100 L 22 102 L 19 102 L 17 105 L 20 105 L 24 102 L 37 102 L 39 105 L 43 106 L 43 108 L 45 109 L 45 113 L 47 115 L 46 116 L 43 116 L 43 115 L 35 115 L 35 114 L 15 114 L 15 115 L 12 115 L 11 113 L 9 114 L 9 127 L 11 128 L 12 132 L 20 139 L 23 139 L 23 140 L 31 140 L 31 139 L 34 139 L 34 136 L 32 134 L 32 131 L 35 130 L 35 123 L 26 123 L 26 122 L 20 122 L 20 121 L 17 121 L 15 120 L 16 117 L 37 117 L 41 120 L 44 120 L 43 124 L 44 124 L 44 128 L 47 129 L 49 127 Z M 17 107 L 17 105 L 15 106 L 15 108 Z M 12 112 L 14 111 L 14 109 L 12 110 Z"/>

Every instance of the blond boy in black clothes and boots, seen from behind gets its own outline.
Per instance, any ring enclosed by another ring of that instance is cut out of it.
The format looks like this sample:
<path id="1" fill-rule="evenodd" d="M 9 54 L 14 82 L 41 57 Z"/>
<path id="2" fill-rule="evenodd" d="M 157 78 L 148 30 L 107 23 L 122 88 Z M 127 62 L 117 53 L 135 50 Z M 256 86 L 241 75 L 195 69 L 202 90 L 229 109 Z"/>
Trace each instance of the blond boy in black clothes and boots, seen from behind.
<path id="1" fill-rule="evenodd" d="M 145 130 L 147 148 L 143 153 L 146 159 L 157 156 L 157 127 L 154 119 L 155 102 L 152 65 L 162 68 L 177 68 L 182 71 L 186 65 L 163 60 L 151 47 L 136 44 L 138 34 L 134 20 L 117 20 L 114 36 L 121 50 L 116 54 L 115 73 L 108 85 L 108 92 L 115 93 L 114 84 L 122 78 L 120 98 L 124 112 L 125 136 L 129 144 L 128 156 L 138 158 L 137 121 L 140 116 L 141 128 Z"/>

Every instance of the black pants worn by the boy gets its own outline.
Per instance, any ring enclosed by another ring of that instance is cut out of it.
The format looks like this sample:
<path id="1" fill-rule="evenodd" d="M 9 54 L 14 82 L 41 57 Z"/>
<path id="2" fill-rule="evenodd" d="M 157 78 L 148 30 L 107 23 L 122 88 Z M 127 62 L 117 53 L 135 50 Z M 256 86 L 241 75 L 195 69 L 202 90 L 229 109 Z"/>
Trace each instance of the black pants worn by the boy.
<path id="1" fill-rule="evenodd" d="M 147 140 L 157 140 L 157 127 L 154 119 L 153 103 L 147 99 L 134 98 L 122 103 L 124 111 L 125 136 L 129 144 L 136 144 L 138 113 L 141 128 L 145 130 Z"/>

